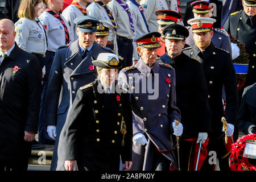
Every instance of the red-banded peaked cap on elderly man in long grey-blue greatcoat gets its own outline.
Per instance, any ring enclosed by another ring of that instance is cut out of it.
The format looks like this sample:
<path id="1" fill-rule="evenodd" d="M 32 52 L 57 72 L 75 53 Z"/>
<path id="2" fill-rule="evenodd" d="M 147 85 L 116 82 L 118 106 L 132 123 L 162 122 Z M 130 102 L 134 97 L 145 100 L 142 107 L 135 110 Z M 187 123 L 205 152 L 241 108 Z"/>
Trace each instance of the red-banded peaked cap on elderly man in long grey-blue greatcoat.
<path id="1" fill-rule="evenodd" d="M 134 39 L 138 46 L 142 46 L 147 49 L 156 49 L 161 47 L 160 41 L 161 34 L 159 32 L 150 32 Z"/>

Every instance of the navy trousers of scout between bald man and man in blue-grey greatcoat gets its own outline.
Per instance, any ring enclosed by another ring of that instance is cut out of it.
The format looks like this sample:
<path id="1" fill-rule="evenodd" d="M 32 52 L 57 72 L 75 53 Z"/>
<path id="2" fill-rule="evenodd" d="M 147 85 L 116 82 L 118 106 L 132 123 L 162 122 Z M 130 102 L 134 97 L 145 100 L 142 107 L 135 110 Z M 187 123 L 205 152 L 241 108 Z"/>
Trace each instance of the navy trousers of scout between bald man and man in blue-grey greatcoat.
<path id="1" fill-rule="evenodd" d="M 46 52 L 46 57 L 44 58 L 44 65 L 46 66 L 46 75 L 44 75 L 43 81 L 43 90 L 41 95 L 41 107 L 39 114 L 39 123 L 38 123 L 38 140 L 40 143 L 48 144 L 53 143 L 54 140 L 49 138 L 47 134 L 47 126 L 46 126 L 46 92 L 48 86 L 48 78 L 49 72 L 51 71 L 52 62 L 54 59 L 54 52 Z"/>

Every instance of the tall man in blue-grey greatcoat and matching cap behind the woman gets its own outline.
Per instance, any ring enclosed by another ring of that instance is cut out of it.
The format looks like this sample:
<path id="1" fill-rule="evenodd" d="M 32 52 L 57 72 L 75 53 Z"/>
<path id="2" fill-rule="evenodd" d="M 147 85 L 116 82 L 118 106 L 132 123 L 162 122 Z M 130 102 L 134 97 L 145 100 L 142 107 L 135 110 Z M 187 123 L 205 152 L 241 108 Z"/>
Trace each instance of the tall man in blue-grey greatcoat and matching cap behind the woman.
<path id="1" fill-rule="evenodd" d="M 75 19 L 79 39 L 57 49 L 49 74 L 49 86 L 46 96 L 46 122 L 48 135 L 55 137 L 51 170 L 64 170 L 64 148 L 59 141 L 68 109 L 75 100 L 77 89 L 96 78 L 96 68 L 92 61 L 101 52 L 111 49 L 95 42 L 97 19 L 80 16 Z"/>

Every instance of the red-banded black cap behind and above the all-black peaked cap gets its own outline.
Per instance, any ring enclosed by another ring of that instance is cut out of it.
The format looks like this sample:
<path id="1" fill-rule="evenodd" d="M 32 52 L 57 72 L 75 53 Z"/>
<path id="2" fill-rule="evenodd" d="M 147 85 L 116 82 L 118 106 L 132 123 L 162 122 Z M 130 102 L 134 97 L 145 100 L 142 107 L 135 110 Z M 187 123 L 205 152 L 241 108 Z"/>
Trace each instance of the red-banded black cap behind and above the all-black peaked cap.
<path id="1" fill-rule="evenodd" d="M 158 16 L 158 24 L 174 24 L 177 20 L 182 18 L 182 16 L 171 10 L 156 10 L 155 15 Z"/>

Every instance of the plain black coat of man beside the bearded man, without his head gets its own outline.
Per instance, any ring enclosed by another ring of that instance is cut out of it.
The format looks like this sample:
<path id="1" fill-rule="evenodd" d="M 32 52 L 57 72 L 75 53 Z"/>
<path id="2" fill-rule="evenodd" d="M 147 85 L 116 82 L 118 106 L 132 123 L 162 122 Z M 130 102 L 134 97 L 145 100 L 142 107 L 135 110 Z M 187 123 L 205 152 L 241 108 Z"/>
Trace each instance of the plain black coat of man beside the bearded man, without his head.
<path id="1" fill-rule="evenodd" d="M 160 59 L 175 69 L 177 107 L 183 125 L 182 138 L 197 138 L 199 132 L 209 133 L 210 107 L 202 65 L 184 53 L 175 59 L 166 53 Z"/>

